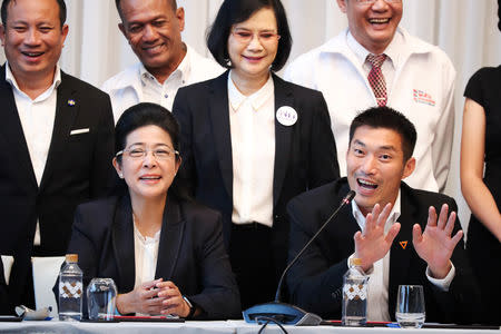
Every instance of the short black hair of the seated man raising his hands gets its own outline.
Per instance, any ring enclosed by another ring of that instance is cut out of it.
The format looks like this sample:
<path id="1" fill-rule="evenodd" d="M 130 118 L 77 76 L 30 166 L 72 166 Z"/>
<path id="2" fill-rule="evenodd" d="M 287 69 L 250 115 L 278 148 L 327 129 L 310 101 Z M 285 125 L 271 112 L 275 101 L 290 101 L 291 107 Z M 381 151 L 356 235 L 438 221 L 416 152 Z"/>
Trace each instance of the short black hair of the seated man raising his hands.
<path id="1" fill-rule="evenodd" d="M 362 126 L 371 128 L 390 129 L 402 138 L 404 161 L 407 161 L 414 153 L 418 134 L 415 127 L 402 112 L 390 107 L 372 107 L 358 114 L 350 126 L 350 145 L 355 130 Z"/>

